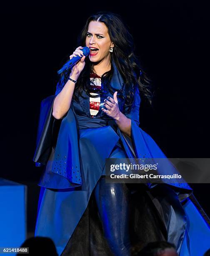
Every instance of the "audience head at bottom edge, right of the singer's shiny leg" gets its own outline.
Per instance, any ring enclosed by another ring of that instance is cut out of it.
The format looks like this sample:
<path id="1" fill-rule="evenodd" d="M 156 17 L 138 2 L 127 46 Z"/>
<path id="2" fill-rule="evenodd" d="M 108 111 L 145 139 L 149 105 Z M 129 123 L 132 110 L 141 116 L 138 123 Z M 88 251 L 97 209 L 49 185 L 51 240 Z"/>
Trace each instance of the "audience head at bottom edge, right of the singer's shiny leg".
<path id="1" fill-rule="evenodd" d="M 138 254 L 138 256 L 178 256 L 173 243 L 166 241 L 156 241 L 148 243 Z"/>

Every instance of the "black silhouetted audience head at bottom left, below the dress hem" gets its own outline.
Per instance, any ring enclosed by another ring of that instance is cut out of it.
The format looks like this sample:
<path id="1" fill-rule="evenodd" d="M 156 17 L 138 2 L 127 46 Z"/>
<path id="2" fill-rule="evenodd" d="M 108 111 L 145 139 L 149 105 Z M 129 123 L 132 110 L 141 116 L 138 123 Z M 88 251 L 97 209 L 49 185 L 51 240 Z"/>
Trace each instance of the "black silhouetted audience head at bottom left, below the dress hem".
<path id="1" fill-rule="evenodd" d="M 50 256 L 58 256 L 55 244 L 52 239 L 48 237 L 36 236 L 32 238 L 28 238 L 21 245 L 21 247 L 28 247 L 29 254 L 27 255 L 50 255 Z M 18 253 L 17 256 L 23 256 L 23 254 Z"/>

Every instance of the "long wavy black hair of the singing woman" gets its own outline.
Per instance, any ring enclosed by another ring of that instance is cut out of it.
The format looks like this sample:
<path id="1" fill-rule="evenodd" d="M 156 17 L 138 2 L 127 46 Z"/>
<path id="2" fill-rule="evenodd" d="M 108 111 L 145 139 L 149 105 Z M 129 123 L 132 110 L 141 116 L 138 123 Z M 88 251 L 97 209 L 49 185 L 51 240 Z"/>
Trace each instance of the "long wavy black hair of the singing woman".
<path id="1" fill-rule="evenodd" d="M 150 104 L 152 104 L 152 93 L 150 91 L 150 79 L 147 77 L 143 67 L 141 67 L 140 60 L 134 54 L 133 36 L 129 33 L 127 26 L 122 22 L 120 15 L 110 12 L 98 12 L 91 15 L 82 29 L 80 36 L 78 37 L 78 45 L 85 46 L 85 40 L 87 36 L 87 30 L 90 21 L 100 21 L 108 28 L 108 34 L 110 40 L 113 42 L 113 52 L 111 54 L 111 62 L 114 60 L 118 71 L 120 72 L 124 81 L 125 96 L 122 91 L 118 91 L 117 97 L 125 98 L 125 106 L 127 110 L 133 104 L 135 86 L 138 86 L 140 94 L 145 96 Z M 75 84 L 74 100 L 78 100 L 78 95 L 82 96 L 82 91 L 90 97 L 98 97 L 104 91 L 94 91 L 98 93 L 95 96 L 90 95 L 90 73 L 93 72 L 93 64 L 89 58 L 85 58 L 85 67 L 80 73 Z M 63 72 L 60 76 L 60 80 L 57 86 L 63 87 L 67 82 L 70 70 Z M 113 75 L 113 67 L 111 70 L 102 75 L 104 84 L 107 90 L 113 94 L 116 90 L 111 87 L 110 81 Z"/>

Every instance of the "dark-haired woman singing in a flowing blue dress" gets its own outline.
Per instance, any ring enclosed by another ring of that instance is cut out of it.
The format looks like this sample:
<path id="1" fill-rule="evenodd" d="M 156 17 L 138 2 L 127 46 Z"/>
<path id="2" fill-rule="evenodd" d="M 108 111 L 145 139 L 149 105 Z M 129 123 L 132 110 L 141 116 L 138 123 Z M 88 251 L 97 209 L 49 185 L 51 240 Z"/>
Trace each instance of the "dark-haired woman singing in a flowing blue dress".
<path id="1" fill-rule="evenodd" d="M 165 158 L 139 127 L 140 96 L 151 102 L 151 95 L 133 37 L 119 15 L 100 12 L 87 19 L 78 45 L 70 59 L 82 58 L 42 101 L 34 161 L 46 167 L 35 236 L 52 238 L 59 255 L 129 256 L 152 241 L 190 255 L 184 203 L 192 189 L 184 180 L 105 182 L 107 158 Z"/>

